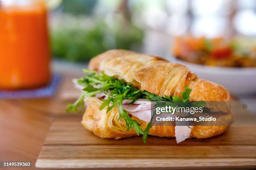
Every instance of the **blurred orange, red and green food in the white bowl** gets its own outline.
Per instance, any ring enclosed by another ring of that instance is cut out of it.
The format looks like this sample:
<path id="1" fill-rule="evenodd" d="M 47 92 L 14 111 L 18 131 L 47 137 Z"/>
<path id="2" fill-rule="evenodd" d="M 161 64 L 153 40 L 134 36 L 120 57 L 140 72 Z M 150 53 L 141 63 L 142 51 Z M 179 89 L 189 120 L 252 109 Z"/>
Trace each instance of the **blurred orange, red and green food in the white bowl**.
<path id="1" fill-rule="evenodd" d="M 178 36 L 172 54 L 179 60 L 221 67 L 256 67 L 256 41 L 246 37 Z"/>

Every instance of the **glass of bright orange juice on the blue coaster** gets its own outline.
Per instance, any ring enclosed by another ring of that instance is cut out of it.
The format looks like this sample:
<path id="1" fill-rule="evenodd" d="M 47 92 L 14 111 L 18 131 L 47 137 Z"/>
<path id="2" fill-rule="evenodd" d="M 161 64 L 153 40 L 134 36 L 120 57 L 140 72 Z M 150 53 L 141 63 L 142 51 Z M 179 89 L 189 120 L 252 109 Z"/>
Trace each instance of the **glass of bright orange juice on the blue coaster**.
<path id="1" fill-rule="evenodd" d="M 47 10 L 37 0 L 0 0 L 0 90 L 50 80 Z"/>

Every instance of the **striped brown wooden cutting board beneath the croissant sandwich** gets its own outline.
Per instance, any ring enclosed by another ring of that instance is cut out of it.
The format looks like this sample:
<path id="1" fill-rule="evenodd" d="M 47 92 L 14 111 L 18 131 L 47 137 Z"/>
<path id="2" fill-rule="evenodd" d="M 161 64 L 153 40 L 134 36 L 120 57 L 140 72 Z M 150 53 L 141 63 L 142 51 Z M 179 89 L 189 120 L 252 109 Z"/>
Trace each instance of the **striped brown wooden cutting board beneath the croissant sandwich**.
<path id="1" fill-rule="evenodd" d="M 61 115 L 51 126 L 38 168 L 256 168 L 256 126 L 233 126 L 210 139 L 149 136 L 97 138 L 80 125 L 82 115 Z M 40 133 L 40 132 L 38 132 Z"/>

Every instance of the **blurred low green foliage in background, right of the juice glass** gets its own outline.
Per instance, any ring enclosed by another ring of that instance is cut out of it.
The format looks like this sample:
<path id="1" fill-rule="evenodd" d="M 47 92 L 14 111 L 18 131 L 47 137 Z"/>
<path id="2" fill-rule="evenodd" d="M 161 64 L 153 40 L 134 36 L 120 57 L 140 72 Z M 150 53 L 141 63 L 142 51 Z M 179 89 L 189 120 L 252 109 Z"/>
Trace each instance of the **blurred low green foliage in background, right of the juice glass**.
<path id="1" fill-rule="evenodd" d="M 51 30 L 54 56 L 74 62 L 87 61 L 95 55 L 113 48 L 133 49 L 143 41 L 143 30 L 118 23 L 113 28 L 100 20 L 93 26 L 59 26 Z"/>

